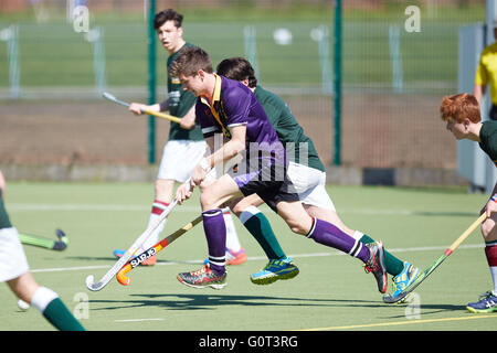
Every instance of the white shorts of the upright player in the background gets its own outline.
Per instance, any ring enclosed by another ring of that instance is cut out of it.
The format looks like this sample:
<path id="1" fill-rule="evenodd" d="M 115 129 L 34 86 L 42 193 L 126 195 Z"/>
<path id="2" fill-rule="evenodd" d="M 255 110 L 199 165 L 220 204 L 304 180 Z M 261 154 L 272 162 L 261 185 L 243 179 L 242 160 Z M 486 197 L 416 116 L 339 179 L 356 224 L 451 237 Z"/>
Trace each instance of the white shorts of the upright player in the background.
<path id="1" fill-rule="evenodd" d="M 171 140 L 166 143 L 157 179 L 171 179 L 181 183 L 205 154 L 205 141 Z"/>

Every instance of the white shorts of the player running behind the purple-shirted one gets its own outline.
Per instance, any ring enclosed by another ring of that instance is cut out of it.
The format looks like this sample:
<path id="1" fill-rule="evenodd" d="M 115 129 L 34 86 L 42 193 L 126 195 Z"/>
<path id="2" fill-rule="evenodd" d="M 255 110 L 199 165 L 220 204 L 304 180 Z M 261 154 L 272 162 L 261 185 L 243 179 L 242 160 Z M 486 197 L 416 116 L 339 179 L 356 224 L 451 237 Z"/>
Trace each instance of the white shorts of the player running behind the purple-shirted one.
<path id="1" fill-rule="evenodd" d="M 334 202 L 326 192 L 325 172 L 304 164 L 289 162 L 287 175 L 292 180 L 302 203 L 336 211 Z"/>

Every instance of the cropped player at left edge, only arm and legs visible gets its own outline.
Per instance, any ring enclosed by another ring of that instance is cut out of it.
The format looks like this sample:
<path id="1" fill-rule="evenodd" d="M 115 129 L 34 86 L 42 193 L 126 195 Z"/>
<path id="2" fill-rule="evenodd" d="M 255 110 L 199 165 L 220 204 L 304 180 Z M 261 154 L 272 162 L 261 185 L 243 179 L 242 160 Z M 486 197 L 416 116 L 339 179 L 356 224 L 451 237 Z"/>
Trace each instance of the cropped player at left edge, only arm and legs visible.
<path id="1" fill-rule="evenodd" d="M 0 282 L 7 281 L 19 299 L 40 310 L 56 329 L 84 331 L 59 295 L 52 289 L 39 286 L 29 271 L 18 229 L 12 226 L 3 204 L 4 193 L 6 180 L 0 171 Z"/>

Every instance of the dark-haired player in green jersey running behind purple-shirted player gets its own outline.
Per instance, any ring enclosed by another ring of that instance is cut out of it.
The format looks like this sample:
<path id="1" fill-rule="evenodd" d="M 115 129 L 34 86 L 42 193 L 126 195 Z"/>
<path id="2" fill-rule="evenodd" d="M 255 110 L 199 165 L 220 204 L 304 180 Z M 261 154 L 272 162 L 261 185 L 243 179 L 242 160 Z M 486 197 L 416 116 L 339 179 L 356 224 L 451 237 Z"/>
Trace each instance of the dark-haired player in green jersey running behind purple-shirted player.
<path id="1" fill-rule="evenodd" d="M 240 81 L 257 97 L 279 140 L 285 145 L 287 153 L 294 156 L 289 159 L 288 178 L 296 188 L 307 213 L 311 217 L 336 225 L 356 240 L 364 244 L 373 243 L 374 240 L 368 235 L 348 228 L 340 220 L 326 192 L 325 165 L 319 159 L 313 140 L 304 133 L 304 129 L 298 125 L 288 106 L 274 93 L 257 85 L 251 63 L 243 57 L 226 58 L 218 65 L 215 72 L 218 75 Z M 237 202 L 236 207 L 233 208 L 269 258 L 269 264 L 262 271 L 251 276 L 251 280 L 257 285 L 273 282 L 278 279 L 279 274 L 283 276 L 288 274 L 286 268 L 288 259 L 281 249 L 267 218 L 256 207 L 262 203 L 261 197 L 253 194 Z M 226 236 L 230 238 L 236 235 Z M 385 266 L 388 272 L 394 276 L 394 295 L 406 288 L 420 274 L 419 268 L 408 261 L 401 261 L 389 252 L 385 252 Z"/>

